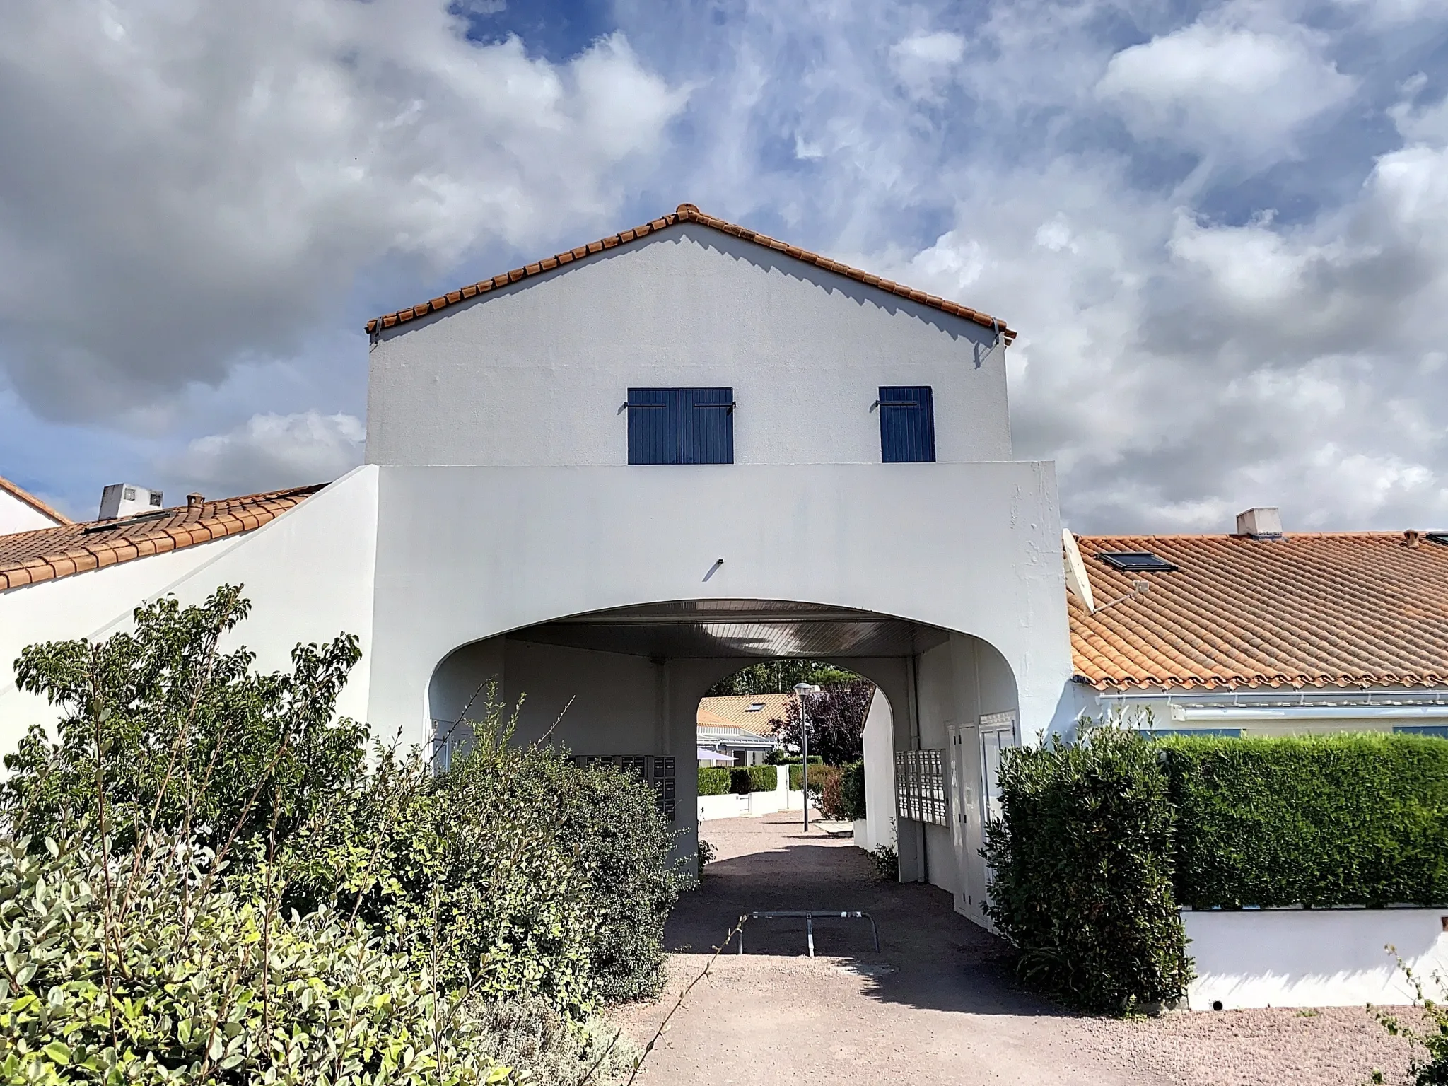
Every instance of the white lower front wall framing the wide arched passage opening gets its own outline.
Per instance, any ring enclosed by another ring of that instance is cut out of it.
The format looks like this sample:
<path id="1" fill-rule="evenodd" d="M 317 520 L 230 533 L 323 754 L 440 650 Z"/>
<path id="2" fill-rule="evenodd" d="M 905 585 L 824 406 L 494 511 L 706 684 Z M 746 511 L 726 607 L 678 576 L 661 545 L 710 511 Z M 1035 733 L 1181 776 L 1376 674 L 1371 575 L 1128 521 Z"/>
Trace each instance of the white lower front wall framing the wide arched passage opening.
<path id="1" fill-rule="evenodd" d="M 1019 676 L 1030 740 L 1070 676 L 1054 498 L 1040 463 L 382 468 L 369 715 L 424 741 L 443 657 L 562 615 L 801 599 L 988 640 Z"/>

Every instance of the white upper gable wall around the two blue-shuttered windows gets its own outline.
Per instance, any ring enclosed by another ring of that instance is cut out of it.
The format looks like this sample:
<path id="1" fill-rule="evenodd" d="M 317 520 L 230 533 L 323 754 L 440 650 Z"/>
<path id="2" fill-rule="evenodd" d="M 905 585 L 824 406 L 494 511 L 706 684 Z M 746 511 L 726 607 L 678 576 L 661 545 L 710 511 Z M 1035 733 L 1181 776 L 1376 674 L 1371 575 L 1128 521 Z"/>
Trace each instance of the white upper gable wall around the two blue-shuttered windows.
<path id="1" fill-rule="evenodd" d="M 937 459 L 1003 460 L 993 342 L 691 223 L 381 333 L 366 459 L 627 463 L 630 387 L 723 385 L 738 404 L 736 463 L 879 463 L 879 387 L 931 385 Z"/>

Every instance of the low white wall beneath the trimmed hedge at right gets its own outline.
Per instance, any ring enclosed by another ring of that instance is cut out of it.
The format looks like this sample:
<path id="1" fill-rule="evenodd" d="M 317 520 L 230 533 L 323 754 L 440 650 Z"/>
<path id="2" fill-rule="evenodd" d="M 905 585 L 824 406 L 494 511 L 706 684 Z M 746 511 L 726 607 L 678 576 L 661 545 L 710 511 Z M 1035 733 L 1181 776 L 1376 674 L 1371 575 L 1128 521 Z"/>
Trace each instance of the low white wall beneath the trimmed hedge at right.
<path id="1" fill-rule="evenodd" d="M 1448 909 L 1244 909 L 1183 912 L 1196 980 L 1193 1011 L 1410 1003 L 1393 951 L 1441 995 Z M 1221 1003 L 1221 1006 L 1216 1006 Z"/>

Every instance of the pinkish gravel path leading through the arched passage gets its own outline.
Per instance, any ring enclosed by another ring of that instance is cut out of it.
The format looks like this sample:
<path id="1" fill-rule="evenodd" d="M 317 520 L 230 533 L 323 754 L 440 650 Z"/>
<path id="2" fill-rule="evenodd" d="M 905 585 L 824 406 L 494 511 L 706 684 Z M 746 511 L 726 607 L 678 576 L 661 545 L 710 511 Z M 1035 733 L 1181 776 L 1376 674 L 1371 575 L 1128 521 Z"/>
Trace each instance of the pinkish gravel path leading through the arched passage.
<path id="1" fill-rule="evenodd" d="M 641 1083 L 1051 1083 L 1051 1086 L 1358 1086 L 1402 1082 L 1407 1047 L 1361 1008 L 1173 1014 L 1114 1021 L 1063 1012 L 1016 988 L 1002 944 L 931 886 L 879 883 L 864 853 L 798 815 L 705 822 L 718 847 L 704 886 L 669 921 L 666 995 L 621 1008 L 641 1043 L 740 914 L 864 909 L 804 956 L 799 921 L 752 921 L 673 1016 Z"/>

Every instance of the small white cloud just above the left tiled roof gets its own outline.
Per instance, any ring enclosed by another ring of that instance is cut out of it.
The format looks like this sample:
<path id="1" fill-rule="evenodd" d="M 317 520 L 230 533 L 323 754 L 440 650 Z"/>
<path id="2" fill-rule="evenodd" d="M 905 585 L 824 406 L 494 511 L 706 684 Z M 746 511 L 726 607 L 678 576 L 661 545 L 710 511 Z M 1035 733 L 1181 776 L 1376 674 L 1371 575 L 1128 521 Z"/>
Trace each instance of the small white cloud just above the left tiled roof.
<path id="1" fill-rule="evenodd" d="M 187 489 L 233 497 L 332 482 L 362 462 L 365 433 L 349 414 L 256 414 L 227 433 L 193 440 L 159 469 Z"/>

